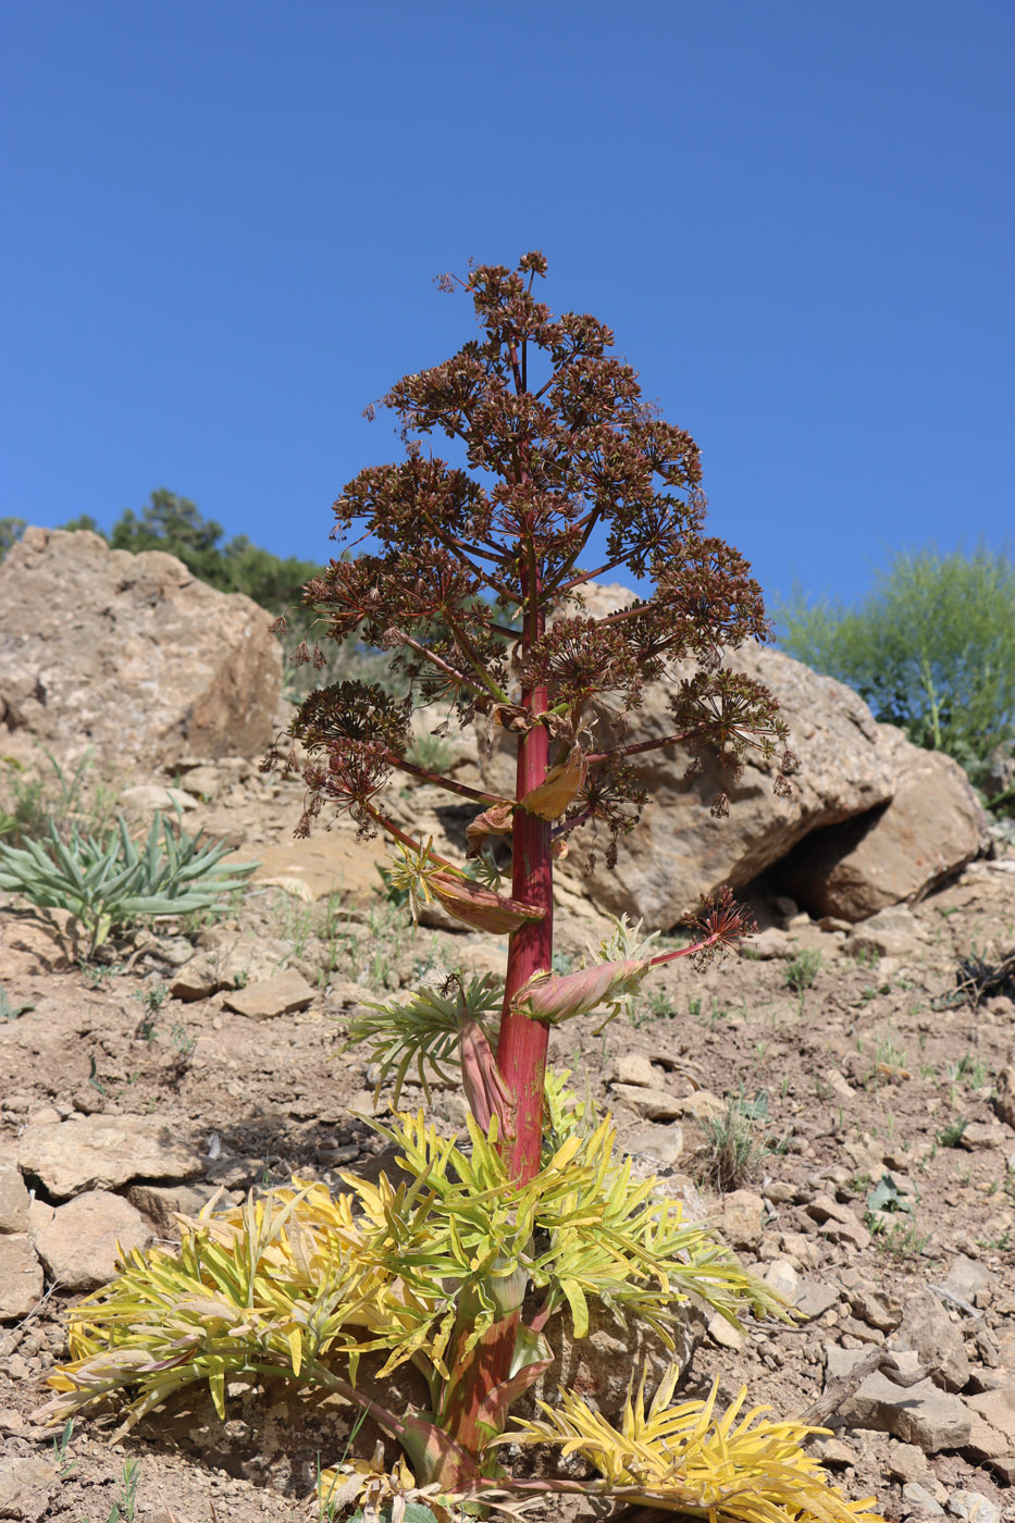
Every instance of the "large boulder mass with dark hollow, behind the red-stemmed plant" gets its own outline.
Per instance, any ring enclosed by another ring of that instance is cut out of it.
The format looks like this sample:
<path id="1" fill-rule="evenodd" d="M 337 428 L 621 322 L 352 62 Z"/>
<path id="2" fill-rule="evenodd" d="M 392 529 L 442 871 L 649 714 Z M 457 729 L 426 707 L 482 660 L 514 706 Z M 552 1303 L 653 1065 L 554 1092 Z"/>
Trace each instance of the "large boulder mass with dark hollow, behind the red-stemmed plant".
<path id="1" fill-rule="evenodd" d="M 604 617 L 632 600 L 628 588 L 591 585 L 584 588 L 582 611 Z M 701 894 L 722 883 L 742 889 L 777 867 L 779 886 L 812 912 L 861 920 L 885 905 L 919 899 L 981 850 L 983 810 L 957 763 L 876 723 L 852 688 L 780 650 L 750 644 L 725 652 L 724 663 L 779 699 L 791 749 L 800 757 L 792 797 L 773 792 L 776 763 L 751 752 L 732 786 L 715 763 L 687 781 L 684 746 L 637 755 L 632 760 L 649 795 L 640 824 L 620 841 L 613 871 L 602 850 L 587 868 L 591 842 L 579 832 L 572 856 L 555 873 L 565 891 L 587 896 L 599 911 L 628 911 L 649 926 L 668 928 Z M 666 698 L 663 682 L 646 690 L 631 742 L 672 731 Z M 500 739 L 480 754 L 479 766 L 488 787 L 514 790 L 509 742 Z M 728 792 L 730 813 L 716 819 L 710 806 L 719 792 Z M 792 879 L 782 868 L 786 857 L 799 865 Z"/>

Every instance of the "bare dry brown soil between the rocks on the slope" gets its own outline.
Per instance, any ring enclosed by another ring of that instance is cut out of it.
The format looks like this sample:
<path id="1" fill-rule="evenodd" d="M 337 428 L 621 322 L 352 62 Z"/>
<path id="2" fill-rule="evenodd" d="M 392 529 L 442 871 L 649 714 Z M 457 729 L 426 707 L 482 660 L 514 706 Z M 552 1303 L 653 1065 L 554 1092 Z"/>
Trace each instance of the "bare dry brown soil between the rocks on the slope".
<path id="1" fill-rule="evenodd" d="M 279 807 L 270 822 L 267 815 L 253 821 L 241 813 L 233 838 L 245 832 L 264 844 L 291 829 L 291 800 L 276 790 L 273 801 Z M 741 1256 L 760 1272 L 786 1261 L 802 1281 L 840 1292 L 799 1330 L 748 1330 L 735 1348 L 706 1336 L 687 1375 L 689 1394 L 704 1392 L 718 1375 L 724 1398 L 745 1383 L 753 1400 L 800 1413 L 824 1389 L 829 1348 L 873 1348 L 889 1336 L 853 1313 L 850 1284 L 867 1282 L 884 1302 L 904 1305 L 914 1290 L 940 1285 L 963 1260 L 985 1272 L 974 1302 L 943 1302 L 966 1345 L 966 1394 L 1004 1384 L 1006 1369 L 1015 1371 L 1015 1132 L 998 1122 L 992 1104 L 997 1075 L 1013 1058 L 1015 1004 L 1003 993 L 977 1004 L 948 998 L 962 958 L 1000 956 L 1015 946 L 1013 868 L 1010 857 L 974 864 L 916 906 L 921 935 L 905 955 L 858 961 L 844 955 L 841 934 L 797 917 L 785 932 L 789 959 L 747 952 L 703 975 L 671 966 L 634 1020 L 619 1020 L 599 1037 L 590 1020 L 553 1033 L 553 1060 L 579 1083 L 587 1077 L 602 1104 L 610 1104 L 617 1063 L 631 1068 L 637 1055 L 655 1065 L 657 1087 L 675 1100 L 701 1092 L 744 1097 L 756 1118 L 756 1156 L 736 1183 L 764 1203 L 764 1217 L 754 1229 L 741 1229 L 748 1241 Z M 779 923 L 760 897 L 759 905 Z M 0 926 L 0 982 L 14 1004 L 35 1007 L 0 1023 L 0 1145 L 15 1147 L 40 1115 L 154 1115 L 203 1154 L 216 1154 L 204 1183 L 224 1185 L 233 1199 L 294 1173 L 334 1180 L 338 1168 L 361 1167 L 378 1150 L 379 1139 L 347 1109 L 366 1107 L 369 1094 L 363 1058 L 340 1055 L 349 984 L 381 991 L 434 969 L 492 967 L 497 958 L 494 943 L 474 935 L 413 929 L 379 897 L 347 921 L 338 917 L 334 935 L 322 935 L 323 903 L 262 888 L 200 940 L 221 950 L 229 938 L 253 931 L 265 943 L 285 943 L 280 959 L 317 993 L 299 1014 L 253 1020 L 232 1014 L 226 993 L 146 1007 L 146 996 L 171 984 L 194 950 L 172 926 L 162 928 L 130 970 L 130 944 L 111 964 L 78 966 L 14 900 Z M 591 921 L 564 914 L 561 955 L 576 958 L 593 931 Z M 797 991 L 788 970 L 806 947 L 821 961 L 811 987 Z M 407 1101 L 416 1100 L 410 1089 Z M 440 1094 L 437 1112 L 451 1127 L 460 1122 L 457 1095 Z M 622 1141 L 634 1138 L 645 1150 L 646 1119 L 626 1104 L 614 1104 L 614 1115 Z M 974 1124 L 975 1145 L 962 1122 Z M 675 1124 L 683 1127 L 683 1153 L 663 1177 L 692 1200 L 696 1186 L 721 1224 L 724 1197 L 709 1183 L 706 1130 L 692 1115 Z M 649 1142 L 661 1135 L 657 1124 Z M 666 1135 L 675 1138 L 674 1124 Z M 640 1159 L 640 1167 L 649 1164 Z M 860 1244 L 849 1234 L 837 1238 L 808 1211 L 818 1196 L 831 1196 L 861 1224 L 867 1194 L 885 1171 L 901 1182 L 911 1209 L 893 1212 L 869 1241 L 866 1234 Z M 748 1215 L 751 1206 L 748 1200 Z M 166 1220 L 157 1228 L 171 1235 Z M 69 1299 L 53 1287 L 27 1317 L 0 1328 L 0 1439 L 8 1456 L 53 1464 L 53 1435 L 41 1432 L 30 1412 L 44 1397 L 47 1369 L 67 1351 Z M 224 1426 L 207 1401 L 194 1400 L 189 1410 L 148 1419 L 113 1447 L 108 1427 L 102 1418 L 78 1422 L 59 1485 L 26 1493 L 23 1515 L 105 1523 L 123 1464 L 136 1459 L 137 1518 L 315 1518 L 317 1456 L 322 1464 L 337 1459 L 346 1432 L 340 1415 L 300 1409 L 280 1389 L 236 1400 Z M 901 1499 L 901 1445 L 850 1427 L 838 1444 L 828 1458 L 843 1489 L 876 1494 L 889 1517 L 910 1515 Z M 927 1470 L 945 1491 L 972 1489 L 1007 1506 L 1004 1476 L 969 1453 L 931 1454 Z M 30 1512 L 32 1496 L 43 1497 L 38 1514 Z M 559 1512 L 550 1508 L 547 1515 Z"/>

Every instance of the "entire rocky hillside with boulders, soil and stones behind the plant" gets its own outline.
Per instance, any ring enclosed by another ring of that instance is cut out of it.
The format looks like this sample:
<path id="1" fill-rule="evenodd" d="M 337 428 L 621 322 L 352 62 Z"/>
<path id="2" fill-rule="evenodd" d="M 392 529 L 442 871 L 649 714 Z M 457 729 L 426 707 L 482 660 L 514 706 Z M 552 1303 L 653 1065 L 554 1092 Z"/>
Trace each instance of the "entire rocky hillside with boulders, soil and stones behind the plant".
<path id="1" fill-rule="evenodd" d="M 137 1462 L 139 1518 L 311 1520 L 315 1467 L 343 1453 L 351 1413 L 280 1386 L 230 1390 L 226 1424 L 210 1401 L 181 1404 L 113 1448 L 108 1419 L 82 1421 L 55 1451 L 32 1412 L 66 1355 L 62 1310 L 111 1276 L 117 1243 L 172 1241 L 174 1212 L 216 1193 L 238 1202 L 293 1174 L 340 1188 L 344 1168 L 392 1170 L 363 1119 L 375 1075 L 340 1057 L 351 1014 L 451 969 L 494 970 L 501 947 L 439 920 L 413 928 L 354 830 L 293 839 L 299 784 L 256 768 L 285 717 L 270 646 L 256 658 L 261 707 L 238 688 L 259 611 L 213 594 L 207 649 L 203 635 L 187 672 L 168 631 L 192 641 L 204 591 L 165 556 L 119 567 L 93 538 L 30 532 L 0 568 L 0 752 L 87 739 L 128 818 L 174 801 L 187 830 L 261 865 L 229 914 L 142 928 L 105 961 L 81 959 L 66 915 L 0 897 L 0 1517 L 105 1518 Z M 76 641 L 55 617 L 29 634 L 27 611 L 43 620 L 58 577 L 78 599 Z M 102 595 L 88 602 L 88 586 Z M 117 655 L 122 638 L 131 652 Z M 568 859 L 558 956 L 573 964 L 608 909 L 669 929 L 724 879 L 753 902 L 760 935 L 704 975 L 671 964 L 602 1036 L 593 1022 L 555 1031 L 552 1057 L 588 1077 L 636 1167 L 715 1220 L 799 1310 L 796 1328 L 745 1336 L 692 1320 L 683 1389 L 701 1395 L 718 1375 L 722 1400 L 747 1384 L 754 1401 L 828 1424 L 814 1451 L 887 1517 L 995 1523 L 1012 1515 L 1015 1482 L 1015 857 L 951 763 L 797 663 L 745 659 L 785 702 L 797 798 L 774 800 L 748 769 L 728 819 L 712 819 L 668 757 L 617 874 L 587 882 Z M 218 713 L 218 684 L 236 694 L 227 734 L 201 720 Z M 451 743 L 463 780 L 501 766 Z M 451 845 L 472 813 L 427 786 L 393 809 Z M 457 1092 L 437 1086 L 434 1101 L 442 1125 L 462 1124 Z M 564 1340 L 547 1394 L 562 1380 L 619 1404 L 631 1362 L 604 1322 Z"/>

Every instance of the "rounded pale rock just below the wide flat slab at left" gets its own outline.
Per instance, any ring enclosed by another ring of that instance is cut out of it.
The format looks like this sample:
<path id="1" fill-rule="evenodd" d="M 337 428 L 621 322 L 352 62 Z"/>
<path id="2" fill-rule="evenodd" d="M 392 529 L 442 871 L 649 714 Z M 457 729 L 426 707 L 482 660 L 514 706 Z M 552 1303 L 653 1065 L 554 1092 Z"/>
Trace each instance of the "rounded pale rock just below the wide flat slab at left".
<path id="1" fill-rule="evenodd" d="M 140 1211 L 105 1189 L 90 1189 L 58 1206 L 35 1247 L 66 1290 L 94 1290 L 117 1273 L 119 1250 L 148 1247 L 152 1231 Z"/>

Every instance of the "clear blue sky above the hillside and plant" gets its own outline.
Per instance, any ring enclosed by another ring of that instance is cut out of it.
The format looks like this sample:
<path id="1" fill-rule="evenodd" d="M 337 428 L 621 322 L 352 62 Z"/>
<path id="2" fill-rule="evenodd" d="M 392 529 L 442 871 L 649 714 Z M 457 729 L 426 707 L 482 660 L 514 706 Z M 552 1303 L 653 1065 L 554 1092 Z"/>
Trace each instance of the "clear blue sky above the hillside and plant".
<path id="1" fill-rule="evenodd" d="M 1013 533 L 1012 0 L 0 0 L 0 515 L 326 559 L 361 408 L 543 248 L 768 594 Z"/>

